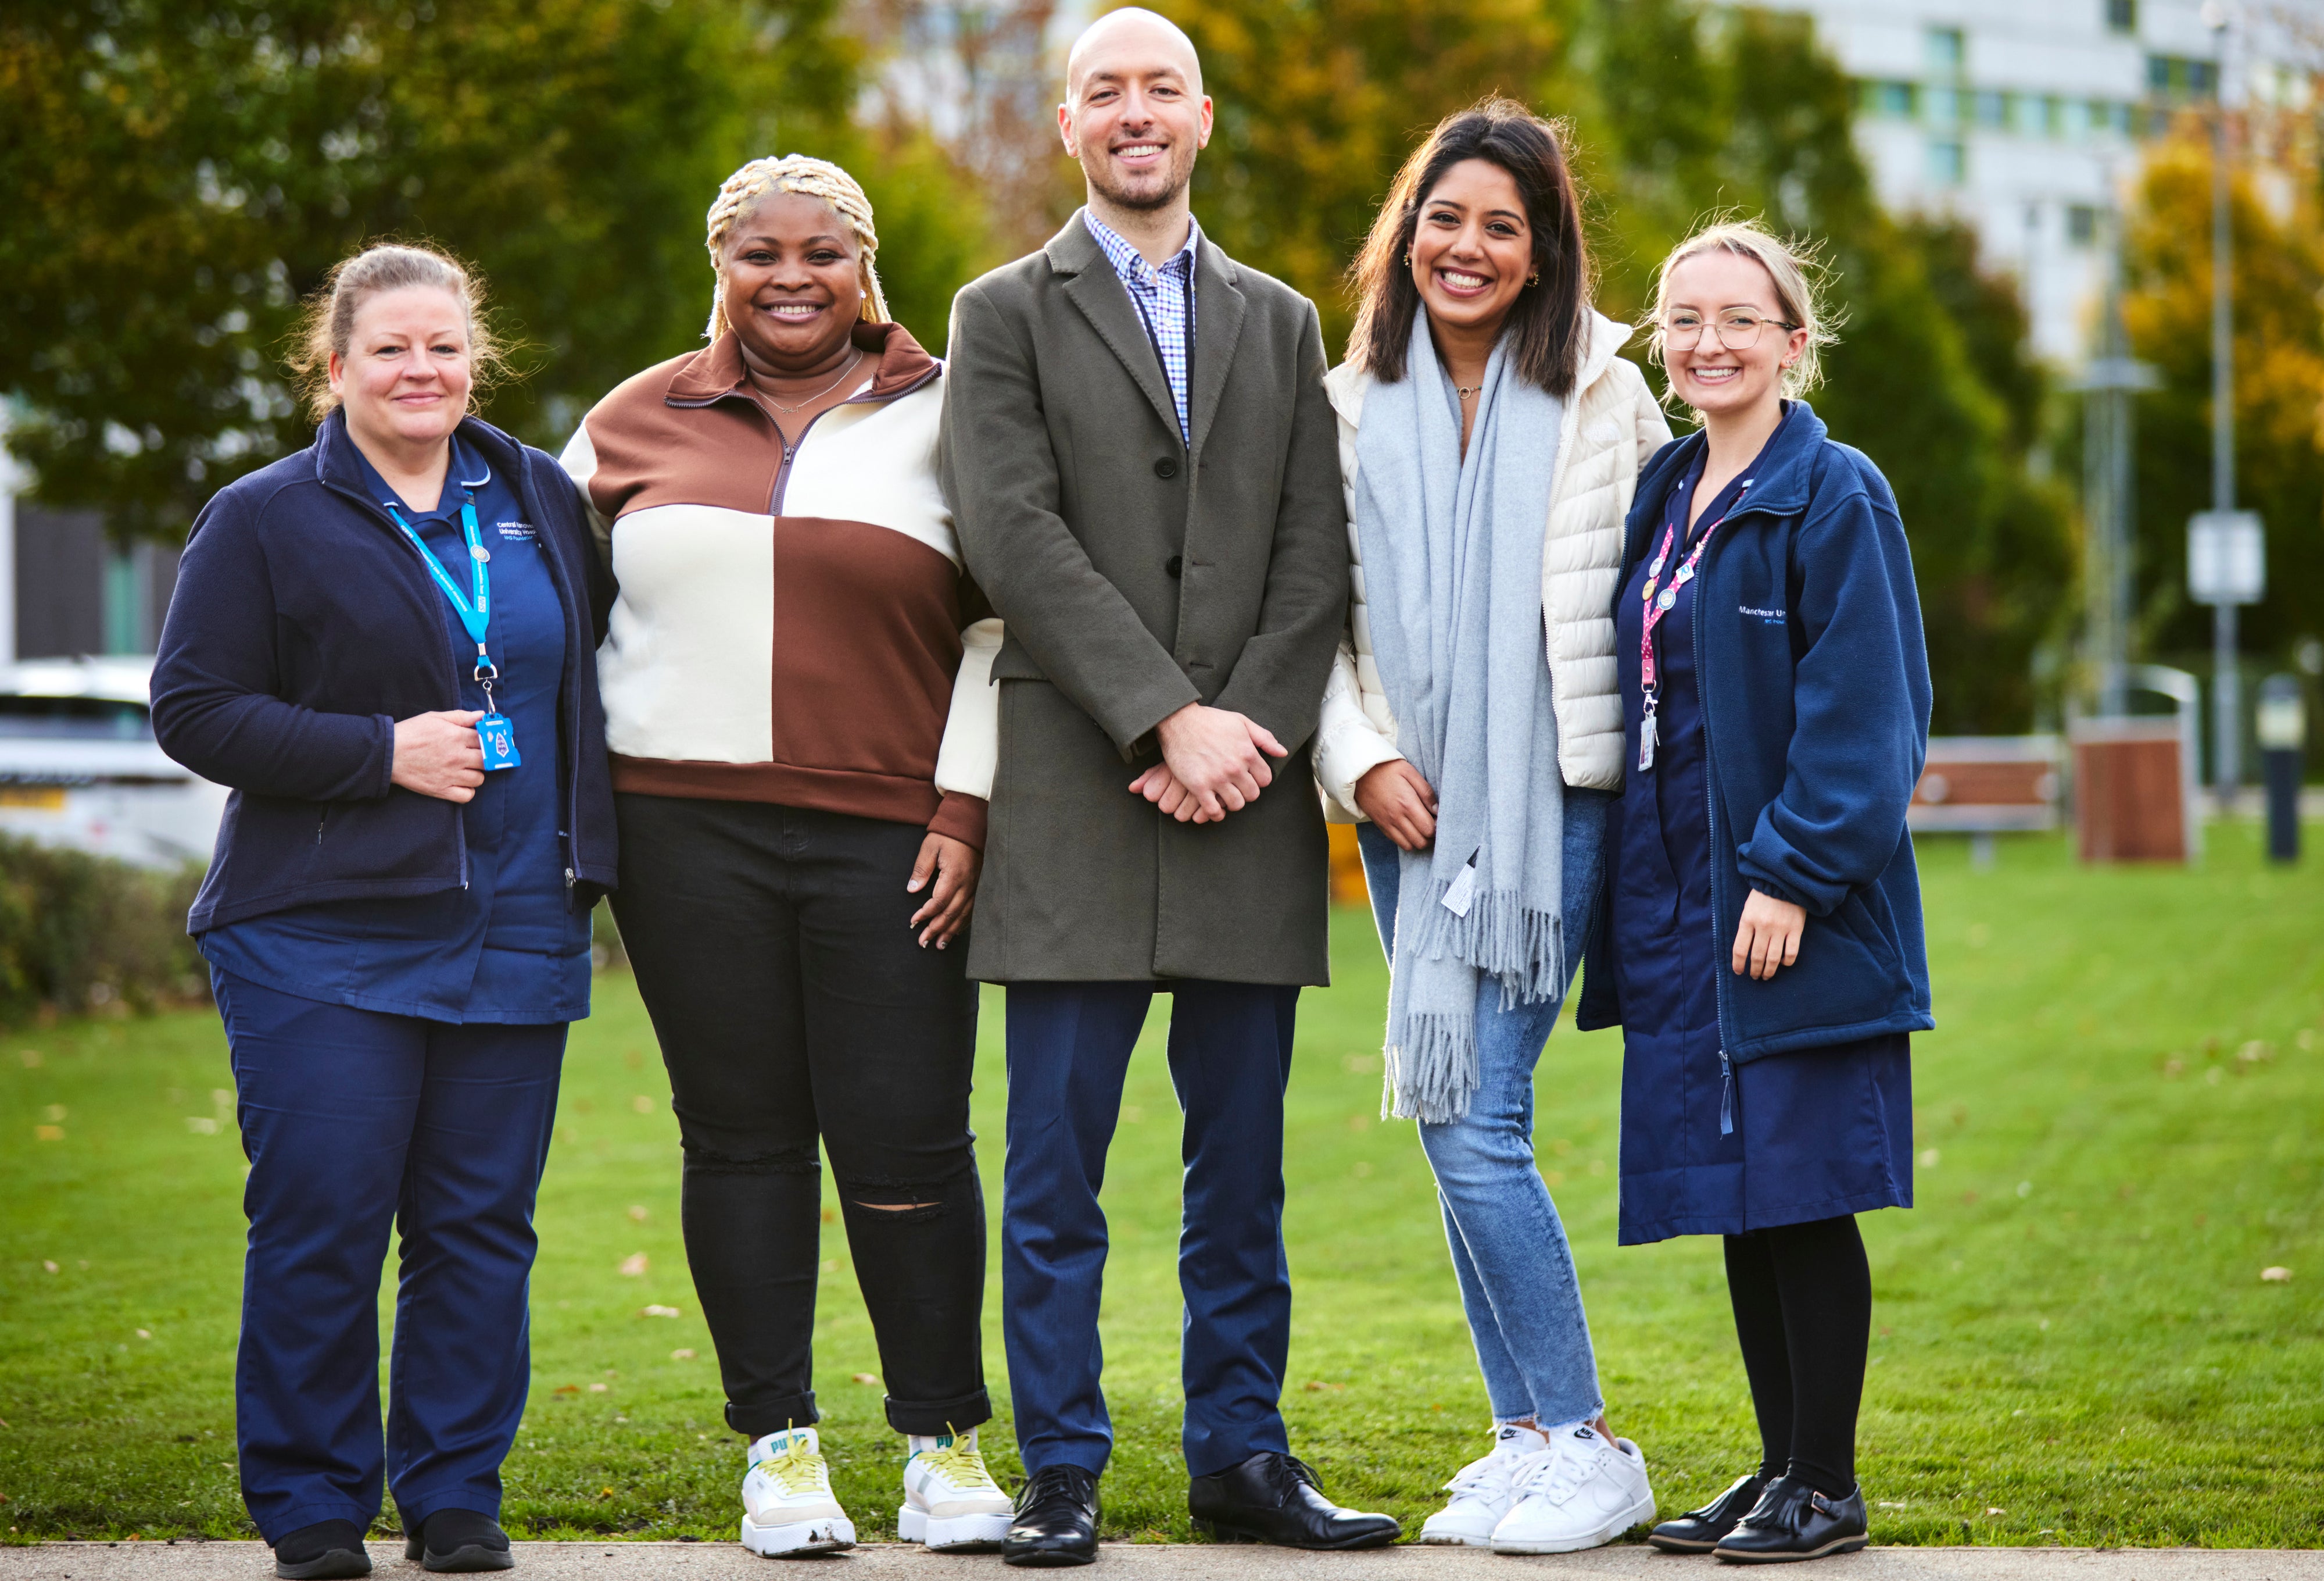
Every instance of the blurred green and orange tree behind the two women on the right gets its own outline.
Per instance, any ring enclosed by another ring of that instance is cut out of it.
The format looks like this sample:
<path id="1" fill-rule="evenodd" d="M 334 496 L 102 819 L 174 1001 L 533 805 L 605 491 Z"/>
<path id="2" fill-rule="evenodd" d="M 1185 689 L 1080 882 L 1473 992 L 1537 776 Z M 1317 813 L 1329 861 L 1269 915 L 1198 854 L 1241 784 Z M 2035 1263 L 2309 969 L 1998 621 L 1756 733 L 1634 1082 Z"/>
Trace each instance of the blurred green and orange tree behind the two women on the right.
<path id="1" fill-rule="evenodd" d="M 1394 167 L 1487 91 L 1571 123 L 1613 316 L 1641 312 L 1655 265 L 1710 212 L 1817 242 L 1845 332 L 1813 400 L 1896 488 L 1936 728 L 2031 725 L 2031 658 L 2071 593 L 2071 537 L 2061 491 L 2027 467 L 2047 391 L 2024 314 L 1966 230 L 1880 209 L 1850 133 L 1855 88 L 1810 19 L 1694 0 L 1162 9 L 1195 37 L 1218 100 L 1195 177 L 1204 228 L 1313 295 L 1334 349 L 1353 316 L 1346 265 Z"/>

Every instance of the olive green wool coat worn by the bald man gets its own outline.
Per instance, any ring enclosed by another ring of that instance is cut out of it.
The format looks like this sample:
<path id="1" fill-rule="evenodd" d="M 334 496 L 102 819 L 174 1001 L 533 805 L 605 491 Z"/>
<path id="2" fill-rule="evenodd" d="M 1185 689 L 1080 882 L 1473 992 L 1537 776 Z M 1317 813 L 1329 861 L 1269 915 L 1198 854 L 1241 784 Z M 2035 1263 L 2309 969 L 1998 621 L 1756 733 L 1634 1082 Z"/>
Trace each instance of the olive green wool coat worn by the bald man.
<path id="1" fill-rule="evenodd" d="M 1188 444 L 1078 214 L 955 298 L 939 467 L 1006 625 L 971 977 L 1329 981 L 1308 746 L 1348 523 L 1322 374 L 1315 305 L 1202 242 Z M 1292 749 L 1225 823 L 1178 823 L 1127 788 L 1188 702 Z"/>

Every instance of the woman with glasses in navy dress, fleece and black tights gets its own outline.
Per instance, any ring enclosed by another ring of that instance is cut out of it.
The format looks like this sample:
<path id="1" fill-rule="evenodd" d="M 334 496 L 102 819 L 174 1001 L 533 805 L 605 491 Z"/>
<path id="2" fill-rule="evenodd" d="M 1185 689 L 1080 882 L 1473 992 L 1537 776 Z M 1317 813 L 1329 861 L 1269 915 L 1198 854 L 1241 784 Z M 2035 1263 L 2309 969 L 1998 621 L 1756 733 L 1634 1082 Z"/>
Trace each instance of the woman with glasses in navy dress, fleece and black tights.
<path id="1" fill-rule="evenodd" d="M 1710 226 L 1650 326 L 1701 430 L 1624 532 L 1627 781 L 1578 1023 L 1622 1028 L 1622 1244 L 1724 1237 L 1759 1418 L 1759 1469 L 1650 1541 L 1808 1560 L 1866 1541 L 1855 1216 L 1913 1204 L 1929 660 L 1887 479 L 1799 400 L 1831 342 L 1803 258 Z"/>

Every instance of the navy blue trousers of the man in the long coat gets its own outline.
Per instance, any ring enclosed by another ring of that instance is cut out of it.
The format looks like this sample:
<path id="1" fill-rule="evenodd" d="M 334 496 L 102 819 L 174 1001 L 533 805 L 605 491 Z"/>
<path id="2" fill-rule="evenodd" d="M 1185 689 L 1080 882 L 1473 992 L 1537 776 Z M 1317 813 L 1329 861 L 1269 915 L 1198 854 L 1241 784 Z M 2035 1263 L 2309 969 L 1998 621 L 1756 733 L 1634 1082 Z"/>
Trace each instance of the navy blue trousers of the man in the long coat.
<path id="1" fill-rule="evenodd" d="M 1025 1472 L 1113 1451 L 1099 1386 L 1106 1216 L 1097 1190 L 1129 1049 L 1157 983 L 1009 983 L 1002 1337 Z M 1171 983 L 1169 1074 L 1185 1114 L 1178 1288 L 1185 1469 L 1208 1476 L 1283 1435 L 1292 1281 L 1283 1258 L 1283 1086 L 1297 988 Z"/>

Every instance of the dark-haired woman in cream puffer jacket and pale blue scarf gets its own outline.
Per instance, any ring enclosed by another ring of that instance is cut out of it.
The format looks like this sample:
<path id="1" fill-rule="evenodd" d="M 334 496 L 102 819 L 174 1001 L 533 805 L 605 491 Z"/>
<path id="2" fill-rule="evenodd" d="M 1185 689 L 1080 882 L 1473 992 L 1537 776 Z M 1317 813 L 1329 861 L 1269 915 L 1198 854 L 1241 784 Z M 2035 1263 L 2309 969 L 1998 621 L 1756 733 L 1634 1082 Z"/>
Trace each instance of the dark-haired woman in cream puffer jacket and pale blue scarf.
<path id="1" fill-rule="evenodd" d="M 1318 777 L 1390 958 L 1387 1104 L 1420 1121 L 1492 1446 L 1420 1541 L 1559 1553 L 1655 1514 L 1606 1428 L 1534 1165 L 1534 1065 L 1590 932 L 1622 704 L 1606 616 L 1638 465 L 1671 437 L 1590 307 L 1559 130 L 1487 100 L 1404 163 L 1355 265 L 1339 412 L 1355 602 Z"/>

